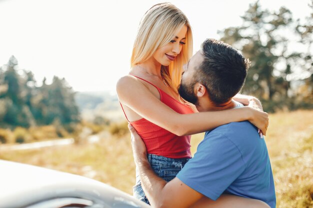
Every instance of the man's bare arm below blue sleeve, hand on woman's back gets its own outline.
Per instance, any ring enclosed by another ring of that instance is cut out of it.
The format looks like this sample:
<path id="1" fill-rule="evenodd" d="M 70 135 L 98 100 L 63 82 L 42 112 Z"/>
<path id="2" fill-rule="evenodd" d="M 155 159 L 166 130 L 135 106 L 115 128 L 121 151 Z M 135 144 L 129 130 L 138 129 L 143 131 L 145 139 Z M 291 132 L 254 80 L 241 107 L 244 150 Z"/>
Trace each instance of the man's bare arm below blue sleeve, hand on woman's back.
<path id="1" fill-rule="evenodd" d="M 146 157 L 146 148 L 134 128 L 131 132 L 133 157 L 141 180 L 141 187 L 153 208 L 188 208 L 203 197 L 178 178 L 169 183 L 155 175 Z"/>

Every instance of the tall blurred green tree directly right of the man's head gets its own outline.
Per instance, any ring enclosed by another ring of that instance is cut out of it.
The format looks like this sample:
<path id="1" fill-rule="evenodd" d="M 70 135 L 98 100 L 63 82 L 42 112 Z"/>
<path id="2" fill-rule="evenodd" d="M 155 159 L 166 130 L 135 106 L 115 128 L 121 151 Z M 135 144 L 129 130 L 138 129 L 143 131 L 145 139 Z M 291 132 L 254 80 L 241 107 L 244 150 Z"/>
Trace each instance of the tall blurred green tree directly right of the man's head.
<path id="1" fill-rule="evenodd" d="M 267 111 L 294 108 L 296 94 L 291 83 L 305 69 L 296 69 L 300 53 L 288 48 L 286 34 L 296 36 L 291 12 L 285 7 L 273 12 L 262 9 L 256 1 L 241 18 L 241 26 L 226 28 L 219 34 L 221 40 L 241 50 L 251 61 L 242 92 L 260 98 Z"/>

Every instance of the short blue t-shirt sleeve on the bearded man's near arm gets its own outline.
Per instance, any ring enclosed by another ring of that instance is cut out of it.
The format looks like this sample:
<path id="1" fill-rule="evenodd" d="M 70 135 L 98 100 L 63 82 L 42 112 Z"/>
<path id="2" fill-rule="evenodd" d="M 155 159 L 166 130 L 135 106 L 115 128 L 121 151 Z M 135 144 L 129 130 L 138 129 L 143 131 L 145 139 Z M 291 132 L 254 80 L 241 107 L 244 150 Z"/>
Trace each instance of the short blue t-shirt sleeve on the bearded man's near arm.
<path id="1" fill-rule="evenodd" d="M 194 157 L 177 178 L 193 190 L 217 200 L 244 169 L 241 153 L 231 139 L 211 132 L 205 135 Z"/>

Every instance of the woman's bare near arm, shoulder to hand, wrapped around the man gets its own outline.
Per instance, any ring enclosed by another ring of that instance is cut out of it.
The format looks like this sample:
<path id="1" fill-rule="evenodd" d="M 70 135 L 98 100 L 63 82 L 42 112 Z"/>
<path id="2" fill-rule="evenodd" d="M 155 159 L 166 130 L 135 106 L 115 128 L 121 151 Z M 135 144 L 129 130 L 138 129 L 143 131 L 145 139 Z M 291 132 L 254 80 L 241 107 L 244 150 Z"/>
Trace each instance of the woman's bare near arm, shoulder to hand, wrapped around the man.
<path id="1" fill-rule="evenodd" d="M 204 132 L 230 122 L 249 120 L 265 134 L 267 113 L 242 107 L 225 111 L 179 114 L 160 102 L 135 77 L 124 76 L 116 85 L 119 101 L 146 120 L 178 136 Z"/>

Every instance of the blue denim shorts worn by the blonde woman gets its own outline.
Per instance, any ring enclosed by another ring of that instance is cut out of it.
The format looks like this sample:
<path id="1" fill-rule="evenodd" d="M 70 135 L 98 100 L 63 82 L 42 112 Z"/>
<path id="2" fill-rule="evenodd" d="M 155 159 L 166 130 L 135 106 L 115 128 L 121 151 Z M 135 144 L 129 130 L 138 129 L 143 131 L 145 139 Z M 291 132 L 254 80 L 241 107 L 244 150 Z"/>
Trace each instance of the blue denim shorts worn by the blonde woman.
<path id="1" fill-rule="evenodd" d="M 178 172 L 188 162 L 188 160 L 190 160 L 187 158 L 186 159 L 166 158 L 163 156 L 152 154 L 148 154 L 147 158 L 154 173 L 160 178 L 164 179 L 166 182 L 169 182 L 172 179 L 174 179 Z M 133 196 L 135 198 L 141 200 L 142 202 L 145 202 L 148 205 L 150 204 L 141 188 L 141 182 L 137 168 L 136 168 L 136 185 L 132 187 L 132 190 Z"/>

